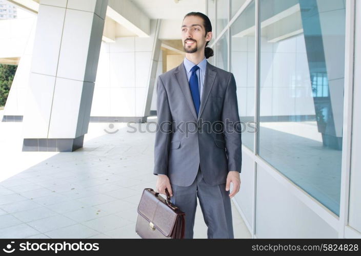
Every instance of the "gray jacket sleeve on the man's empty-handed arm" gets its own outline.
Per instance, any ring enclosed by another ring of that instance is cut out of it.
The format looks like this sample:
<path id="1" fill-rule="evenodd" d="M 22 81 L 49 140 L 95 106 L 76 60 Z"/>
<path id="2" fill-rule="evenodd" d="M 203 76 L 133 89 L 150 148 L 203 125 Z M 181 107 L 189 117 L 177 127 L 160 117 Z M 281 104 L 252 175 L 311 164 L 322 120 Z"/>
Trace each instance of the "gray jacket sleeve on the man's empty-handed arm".
<path id="1" fill-rule="evenodd" d="M 225 93 L 222 121 L 224 123 L 226 149 L 228 156 L 228 172 L 237 170 L 240 173 L 242 167 L 242 139 L 238 103 L 236 94 L 236 81 L 231 73 Z"/>

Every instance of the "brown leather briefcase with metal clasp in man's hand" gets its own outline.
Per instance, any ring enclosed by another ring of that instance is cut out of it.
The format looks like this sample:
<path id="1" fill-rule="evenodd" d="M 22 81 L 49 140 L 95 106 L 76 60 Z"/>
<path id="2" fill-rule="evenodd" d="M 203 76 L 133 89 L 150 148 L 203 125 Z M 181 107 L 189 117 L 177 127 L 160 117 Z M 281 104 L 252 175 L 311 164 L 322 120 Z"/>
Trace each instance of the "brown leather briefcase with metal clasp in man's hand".
<path id="1" fill-rule="evenodd" d="M 184 238 L 185 213 L 170 201 L 164 199 L 152 188 L 145 188 L 137 211 L 135 232 L 141 238 L 181 239 Z"/>

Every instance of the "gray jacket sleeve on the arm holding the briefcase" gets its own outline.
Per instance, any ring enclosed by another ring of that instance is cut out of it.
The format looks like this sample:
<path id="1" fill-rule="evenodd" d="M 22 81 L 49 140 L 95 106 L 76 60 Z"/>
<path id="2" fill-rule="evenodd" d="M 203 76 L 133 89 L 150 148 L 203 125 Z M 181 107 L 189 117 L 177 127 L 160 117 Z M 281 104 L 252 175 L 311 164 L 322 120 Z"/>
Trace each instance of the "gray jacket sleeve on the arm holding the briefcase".
<path id="1" fill-rule="evenodd" d="M 154 175 L 168 173 L 168 154 L 172 132 L 172 115 L 162 78 L 157 79 L 157 129 L 154 143 Z"/>

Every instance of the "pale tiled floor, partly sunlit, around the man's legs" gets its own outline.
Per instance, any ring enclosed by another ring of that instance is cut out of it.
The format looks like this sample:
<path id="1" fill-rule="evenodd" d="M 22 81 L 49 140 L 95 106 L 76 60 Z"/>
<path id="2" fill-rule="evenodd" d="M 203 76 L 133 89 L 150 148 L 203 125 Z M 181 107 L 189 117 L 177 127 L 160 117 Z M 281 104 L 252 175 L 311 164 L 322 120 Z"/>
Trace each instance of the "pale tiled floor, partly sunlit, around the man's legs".
<path id="1" fill-rule="evenodd" d="M 0 238 L 138 238 L 136 207 L 156 182 L 151 121 L 145 133 L 90 123 L 71 153 L 22 152 L 23 123 L 0 122 Z M 250 238 L 233 203 L 232 212 L 235 238 Z M 194 237 L 207 238 L 199 202 Z"/>

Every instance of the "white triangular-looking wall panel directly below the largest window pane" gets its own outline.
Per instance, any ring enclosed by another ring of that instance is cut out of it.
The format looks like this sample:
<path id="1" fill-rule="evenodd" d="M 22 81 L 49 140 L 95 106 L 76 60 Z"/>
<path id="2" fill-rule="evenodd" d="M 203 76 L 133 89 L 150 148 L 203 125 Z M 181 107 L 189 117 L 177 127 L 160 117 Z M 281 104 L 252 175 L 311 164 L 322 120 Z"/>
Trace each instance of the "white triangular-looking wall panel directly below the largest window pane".
<path id="1" fill-rule="evenodd" d="M 337 238 L 338 233 L 309 206 L 257 166 L 257 238 Z"/>

